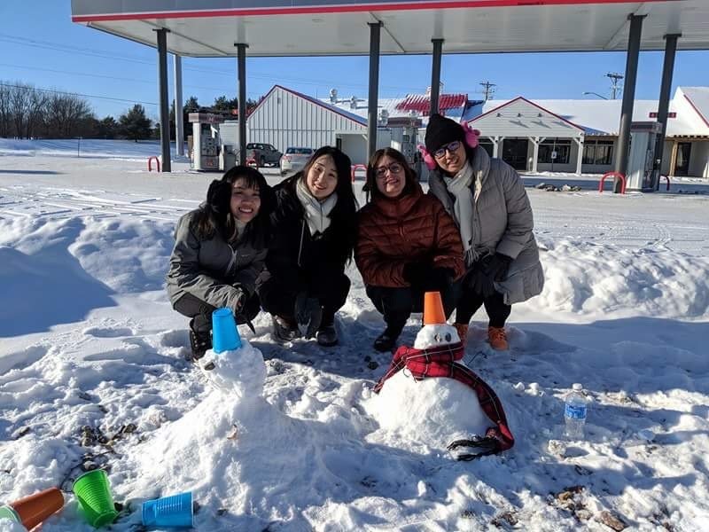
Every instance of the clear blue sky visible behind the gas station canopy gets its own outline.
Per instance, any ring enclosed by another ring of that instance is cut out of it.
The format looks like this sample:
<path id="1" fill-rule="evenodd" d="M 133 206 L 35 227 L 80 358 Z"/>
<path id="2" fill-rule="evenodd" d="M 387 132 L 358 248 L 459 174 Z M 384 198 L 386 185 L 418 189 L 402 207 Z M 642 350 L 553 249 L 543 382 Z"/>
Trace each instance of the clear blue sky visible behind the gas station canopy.
<path id="1" fill-rule="evenodd" d="M 69 0 L 0 2 L 0 80 L 41 89 L 89 95 L 98 117 L 117 117 L 134 103 L 158 115 L 157 51 L 71 21 Z M 662 52 L 642 52 L 635 98 L 658 98 Z M 170 56 L 171 57 L 171 56 Z M 678 85 L 709 85 L 709 51 L 680 51 L 674 66 Z M 169 61 L 170 69 L 172 59 Z M 236 59 L 183 59 L 183 97 L 214 98 L 237 93 Z M 258 98 L 280 83 L 324 98 L 331 88 L 348 98 L 367 96 L 369 60 L 347 58 L 253 58 L 247 60 L 247 94 Z M 479 82 L 496 83 L 495 98 L 596 98 L 610 94 L 607 72 L 625 72 L 625 54 L 479 54 L 443 57 L 444 92 L 480 98 Z M 170 73 L 172 76 L 172 73 Z M 386 56 L 380 62 L 380 97 L 423 92 L 431 79 L 430 56 Z M 170 98 L 172 98 L 172 84 Z M 101 97 L 101 98 L 99 98 Z M 113 98 L 113 99 L 107 99 Z"/>

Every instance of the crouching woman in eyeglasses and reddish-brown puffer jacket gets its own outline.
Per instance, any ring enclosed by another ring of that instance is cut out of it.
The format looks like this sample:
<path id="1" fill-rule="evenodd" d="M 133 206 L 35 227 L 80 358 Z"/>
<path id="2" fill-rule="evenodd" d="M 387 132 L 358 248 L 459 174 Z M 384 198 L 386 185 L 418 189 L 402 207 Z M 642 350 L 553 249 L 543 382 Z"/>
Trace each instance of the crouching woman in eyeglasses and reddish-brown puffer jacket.
<path id="1" fill-rule="evenodd" d="M 453 219 L 426 196 L 404 156 L 378 150 L 367 167 L 367 205 L 359 213 L 354 260 L 386 329 L 374 348 L 390 351 L 426 291 L 440 292 L 446 315 L 464 275 L 463 247 Z"/>

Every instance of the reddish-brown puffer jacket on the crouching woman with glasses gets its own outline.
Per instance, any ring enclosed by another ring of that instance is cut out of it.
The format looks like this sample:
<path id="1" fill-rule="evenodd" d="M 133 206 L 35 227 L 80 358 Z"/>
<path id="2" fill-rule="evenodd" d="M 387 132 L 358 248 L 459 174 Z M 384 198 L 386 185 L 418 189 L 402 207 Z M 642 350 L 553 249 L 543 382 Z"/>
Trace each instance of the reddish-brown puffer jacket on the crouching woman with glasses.
<path id="1" fill-rule="evenodd" d="M 454 279 L 464 275 L 456 223 L 420 184 L 411 186 L 409 194 L 375 198 L 360 210 L 354 261 L 366 286 L 410 286 L 403 278 L 404 264 L 425 255 L 432 256 L 434 267 L 453 270 Z"/>

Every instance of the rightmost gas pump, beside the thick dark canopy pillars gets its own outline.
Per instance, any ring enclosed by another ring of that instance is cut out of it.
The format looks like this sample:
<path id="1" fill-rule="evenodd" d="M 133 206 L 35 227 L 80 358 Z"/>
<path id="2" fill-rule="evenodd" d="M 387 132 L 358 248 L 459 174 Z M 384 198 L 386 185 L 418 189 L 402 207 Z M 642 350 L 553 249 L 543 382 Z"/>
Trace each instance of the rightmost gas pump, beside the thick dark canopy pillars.
<path id="1" fill-rule="evenodd" d="M 630 124 L 630 154 L 627 158 L 628 191 L 652 192 L 659 181 L 659 165 L 655 164 L 655 145 L 662 131 L 656 121 Z"/>

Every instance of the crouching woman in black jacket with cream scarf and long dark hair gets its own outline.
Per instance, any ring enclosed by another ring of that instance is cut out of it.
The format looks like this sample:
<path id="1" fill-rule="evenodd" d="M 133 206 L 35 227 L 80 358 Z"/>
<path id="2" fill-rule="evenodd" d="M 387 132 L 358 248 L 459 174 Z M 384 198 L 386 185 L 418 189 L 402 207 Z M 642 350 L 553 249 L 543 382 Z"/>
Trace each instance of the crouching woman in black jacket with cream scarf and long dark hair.
<path id="1" fill-rule="evenodd" d="M 349 293 L 345 266 L 357 232 L 350 168 L 345 153 L 323 146 L 302 171 L 276 186 L 270 277 L 259 295 L 278 342 L 302 334 L 323 347 L 338 343 L 335 313 Z"/>

